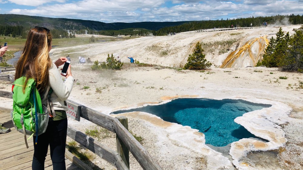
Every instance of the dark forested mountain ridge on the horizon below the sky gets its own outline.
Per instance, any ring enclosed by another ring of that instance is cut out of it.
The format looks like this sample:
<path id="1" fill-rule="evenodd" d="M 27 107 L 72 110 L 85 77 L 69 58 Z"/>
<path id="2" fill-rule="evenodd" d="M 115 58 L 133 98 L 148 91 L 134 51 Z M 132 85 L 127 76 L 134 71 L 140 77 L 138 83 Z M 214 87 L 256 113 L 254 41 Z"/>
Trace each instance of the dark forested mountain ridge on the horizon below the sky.
<path id="1" fill-rule="evenodd" d="M 177 22 L 133 22 L 133 23 L 104 23 L 99 21 L 89 21 L 67 18 L 48 18 L 38 16 L 28 16 L 19 14 L 0 14 L 0 25 L 35 27 L 42 26 L 49 29 L 63 30 L 121 30 L 126 28 L 144 28 L 148 30 L 159 30 L 163 27 L 172 27 L 189 23 L 191 21 Z"/>

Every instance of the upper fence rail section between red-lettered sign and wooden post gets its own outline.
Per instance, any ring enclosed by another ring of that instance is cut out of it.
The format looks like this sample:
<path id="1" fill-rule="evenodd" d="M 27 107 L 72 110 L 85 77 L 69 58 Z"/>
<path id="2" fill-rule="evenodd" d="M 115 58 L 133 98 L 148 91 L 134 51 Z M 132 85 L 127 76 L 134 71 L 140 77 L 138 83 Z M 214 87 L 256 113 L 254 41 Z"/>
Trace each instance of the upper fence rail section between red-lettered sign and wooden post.
<path id="1" fill-rule="evenodd" d="M 110 130 L 111 132 L 115 132 L 113 117 L 95 111 L 74 101 L 68 100 L 68 102 L 80 105 L 80 117 L 89 120 L 90 122 L 95 123 L 96 125 L 104 127 L 105 129 Z"/>

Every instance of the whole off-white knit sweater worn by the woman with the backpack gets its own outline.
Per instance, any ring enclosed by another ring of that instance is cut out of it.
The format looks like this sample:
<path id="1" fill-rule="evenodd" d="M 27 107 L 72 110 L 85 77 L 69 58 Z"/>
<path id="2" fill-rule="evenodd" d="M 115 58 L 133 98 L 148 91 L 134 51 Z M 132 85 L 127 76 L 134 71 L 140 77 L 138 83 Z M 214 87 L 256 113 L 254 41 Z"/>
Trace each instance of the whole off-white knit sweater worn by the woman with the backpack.
<path id="1" fill-rule="evenodd" d="M 53 102 L 54 110 L 64 110 L 67 111 L 68 107 L 65 106 L 64 101 L 68 99 L 72 92 L 74 85 L 74 78 L 69 76 L 65 82 L 62 80 L 62 75 L 60 74 L 55 63 L 52 63 L 51 68 L 48 71 L 49 85 L 45 87 L 44 93 L 41 95 L 42 104 L 46 105 L 47 93 L 49 88 L 53 89 L 51 95 L 51 101 Z"/>

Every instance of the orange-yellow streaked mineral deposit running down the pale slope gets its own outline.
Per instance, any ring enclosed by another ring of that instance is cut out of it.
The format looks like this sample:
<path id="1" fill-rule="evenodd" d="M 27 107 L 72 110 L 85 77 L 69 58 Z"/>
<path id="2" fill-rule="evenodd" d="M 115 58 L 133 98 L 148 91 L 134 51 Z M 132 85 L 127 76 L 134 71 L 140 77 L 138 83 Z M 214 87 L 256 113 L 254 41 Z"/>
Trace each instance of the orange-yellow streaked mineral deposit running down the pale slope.
<path id="1" fill-rule="evenodd" d="M 244 46 L 231 52 L 220 68 L 255 66 L 258 60 L 262 59 L 262 54 L 269 44 L 267 36 L 248 40 Z"/>

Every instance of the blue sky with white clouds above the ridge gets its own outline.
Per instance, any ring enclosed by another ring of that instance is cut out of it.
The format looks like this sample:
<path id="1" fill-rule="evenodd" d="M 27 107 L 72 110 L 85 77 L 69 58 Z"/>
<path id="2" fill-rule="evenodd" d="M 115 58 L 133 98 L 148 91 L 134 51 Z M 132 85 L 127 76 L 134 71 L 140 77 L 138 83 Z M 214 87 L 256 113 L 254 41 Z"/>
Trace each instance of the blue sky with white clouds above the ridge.
<path id="1" fill-rule="evenodd" d="M 303 0 L 0 0 L 1 14 L 110 22 L 197 21 L 303 14 Z"/>

